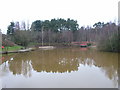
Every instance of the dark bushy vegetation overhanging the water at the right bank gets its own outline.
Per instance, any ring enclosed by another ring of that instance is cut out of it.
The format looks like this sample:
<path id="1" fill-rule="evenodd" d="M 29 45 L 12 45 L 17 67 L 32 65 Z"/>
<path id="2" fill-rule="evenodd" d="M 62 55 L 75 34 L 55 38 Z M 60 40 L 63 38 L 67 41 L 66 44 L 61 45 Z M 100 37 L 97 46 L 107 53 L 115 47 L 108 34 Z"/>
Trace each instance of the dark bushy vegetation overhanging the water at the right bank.
<path id="1" fill-rule="evenodd" d="M 119 27 L 119 26 L 118 26 Z M 103 27 L 104 33 L 102 33 L 97 41 L 97 48 L 101 51 L 120 52 L 120 37 L 118 27 L 113 24 L 107 24 Z"/>

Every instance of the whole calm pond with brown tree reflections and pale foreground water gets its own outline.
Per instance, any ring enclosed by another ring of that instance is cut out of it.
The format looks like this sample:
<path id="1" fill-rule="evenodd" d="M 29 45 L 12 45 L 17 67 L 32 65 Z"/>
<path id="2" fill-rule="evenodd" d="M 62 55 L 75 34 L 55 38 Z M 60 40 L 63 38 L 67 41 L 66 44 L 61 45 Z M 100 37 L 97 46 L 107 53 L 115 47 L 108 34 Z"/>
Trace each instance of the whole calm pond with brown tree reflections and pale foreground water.
<path id="1" fill-rule="evenodd" d="M 55 48 L 3 55 L 2 88 L 118 88 L 118 54 Z"/>

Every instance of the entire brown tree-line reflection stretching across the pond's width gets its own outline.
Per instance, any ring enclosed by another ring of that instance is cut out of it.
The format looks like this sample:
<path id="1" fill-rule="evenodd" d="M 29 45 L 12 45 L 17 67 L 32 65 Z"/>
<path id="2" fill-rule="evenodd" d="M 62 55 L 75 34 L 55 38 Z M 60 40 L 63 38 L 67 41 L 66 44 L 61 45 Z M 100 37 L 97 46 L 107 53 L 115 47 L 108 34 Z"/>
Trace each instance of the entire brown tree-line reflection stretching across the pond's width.
<path id="1" fill-rule="evenodd" d="M 14 60 L 9 62 L 9 68 L 13 74 L 30 76 L 32 68 L 37 72 L 77 71 L 79 63 L 101 68 L 107 77 L 117 83 L 118 62 L 116 53 L 94 50 L 80 51 L 79 48 L 34 51 L 16 54 Z"/>

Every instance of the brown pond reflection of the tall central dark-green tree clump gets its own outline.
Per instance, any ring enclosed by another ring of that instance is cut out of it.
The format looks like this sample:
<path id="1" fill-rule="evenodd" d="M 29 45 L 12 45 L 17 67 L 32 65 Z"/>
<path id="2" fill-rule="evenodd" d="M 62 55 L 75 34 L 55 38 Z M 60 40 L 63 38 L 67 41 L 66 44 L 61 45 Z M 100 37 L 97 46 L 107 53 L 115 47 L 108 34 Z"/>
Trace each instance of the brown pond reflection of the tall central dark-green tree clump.
<path id="1" fill-rule="evenodd" d="M 37 54 L 34 53 L 34 56 Z M 39 59 L 34 57 L 33 68 L 38 71 L 46 72 L 71 72 L 78 70 L 79 62 L 71 55 L 61 51 L 41 51 Z"/>

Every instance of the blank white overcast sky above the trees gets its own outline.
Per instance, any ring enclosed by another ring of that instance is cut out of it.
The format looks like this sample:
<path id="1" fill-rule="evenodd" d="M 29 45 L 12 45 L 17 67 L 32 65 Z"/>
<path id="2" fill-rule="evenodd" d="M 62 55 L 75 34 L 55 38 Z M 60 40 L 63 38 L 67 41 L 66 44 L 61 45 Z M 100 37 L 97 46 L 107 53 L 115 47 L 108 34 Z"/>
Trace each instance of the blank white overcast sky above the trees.
<path id="1" fill-rule="evenodd" d="M 117 21 L 119 0 L 0 0 L 0 29 L 6 33 L 11 21 L 71 18 L 79 26 Z"/>

